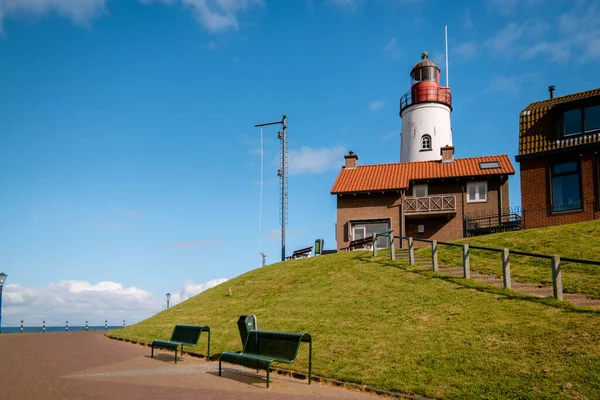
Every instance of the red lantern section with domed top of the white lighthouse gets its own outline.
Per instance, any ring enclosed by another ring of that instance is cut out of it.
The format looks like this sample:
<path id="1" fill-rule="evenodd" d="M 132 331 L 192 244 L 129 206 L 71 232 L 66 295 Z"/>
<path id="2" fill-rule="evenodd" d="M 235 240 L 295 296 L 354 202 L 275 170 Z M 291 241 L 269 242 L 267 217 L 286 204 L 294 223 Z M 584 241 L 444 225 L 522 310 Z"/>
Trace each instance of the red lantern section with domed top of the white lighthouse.
<path id="1" fill-rule="evenodd" d="M 452 110 L 450 88 L 440 86 L 440 68 L 429 59 L 426 51 L 421 54 L 421 61 L 410 71 L 411 89 L 400 98 L 400 116 L 402 111 L 418 103 L 441 103 Z"/>

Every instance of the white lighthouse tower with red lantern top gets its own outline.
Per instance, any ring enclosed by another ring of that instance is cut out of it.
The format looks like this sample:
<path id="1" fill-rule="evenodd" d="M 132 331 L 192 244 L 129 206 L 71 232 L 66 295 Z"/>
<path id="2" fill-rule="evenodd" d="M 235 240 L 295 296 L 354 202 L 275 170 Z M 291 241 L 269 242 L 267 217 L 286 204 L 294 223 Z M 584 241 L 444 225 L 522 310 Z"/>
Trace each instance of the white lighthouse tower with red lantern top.
<path id="1" fill-rule="evenodd" d="M 400 99 L 400 161 L 441 160 L 440 149 L 452 146 L 450 88 L 440 86 L 440 68 L 427 52 L 415 64 L 411 89 Z"/>

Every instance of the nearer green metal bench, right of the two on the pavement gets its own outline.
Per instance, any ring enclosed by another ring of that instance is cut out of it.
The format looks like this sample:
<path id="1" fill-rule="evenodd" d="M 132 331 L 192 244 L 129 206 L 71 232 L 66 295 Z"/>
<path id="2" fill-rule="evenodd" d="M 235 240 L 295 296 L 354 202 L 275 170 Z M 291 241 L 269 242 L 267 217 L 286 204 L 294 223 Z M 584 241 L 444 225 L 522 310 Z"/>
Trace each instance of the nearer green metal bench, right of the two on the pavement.
<path id="1" fill-rule="evenodd" d="M 219 356 L 219 376 L 222 376 L 221 362 L 227 361 L 249 368 L 267 370 L 267 388 L 271 363 L 291 364 L 298 355 L 300 343 L 308 343 L 308 384 L 312 371 L 312 338 L 308 333 L 268 332 L 251 330 L 248 332 L 241 353 L 223 352 Z"/>

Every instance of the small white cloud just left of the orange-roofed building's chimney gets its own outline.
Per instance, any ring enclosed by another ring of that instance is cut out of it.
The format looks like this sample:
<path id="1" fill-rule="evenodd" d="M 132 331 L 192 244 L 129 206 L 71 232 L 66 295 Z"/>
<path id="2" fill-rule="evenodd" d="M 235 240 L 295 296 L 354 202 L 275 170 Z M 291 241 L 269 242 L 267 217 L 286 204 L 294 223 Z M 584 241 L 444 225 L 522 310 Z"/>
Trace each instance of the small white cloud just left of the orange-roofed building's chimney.
<path id="1" fill-rule="evenodd" d="M 342 146 L 314 149 L 302 146 L 288 152 L 290 175 L 321 173 L 343 164 L 345 149 Z"/>

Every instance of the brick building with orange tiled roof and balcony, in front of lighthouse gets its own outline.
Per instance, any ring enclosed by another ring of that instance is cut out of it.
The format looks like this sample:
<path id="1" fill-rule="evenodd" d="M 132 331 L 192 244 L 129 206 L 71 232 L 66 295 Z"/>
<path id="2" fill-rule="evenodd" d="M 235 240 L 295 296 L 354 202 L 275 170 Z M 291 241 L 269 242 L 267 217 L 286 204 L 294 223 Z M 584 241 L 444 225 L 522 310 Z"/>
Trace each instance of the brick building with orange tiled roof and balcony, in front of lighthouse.
<path id="1" fill-rule="evenodd" d="M 508 203 L 508 176 L 515 173 L 506 155 L 453 158 L 441 149 L 439 161 L 358 166 L 350 152 L 331 189 L 337 196 L 337 248 L 389 229 L 394 235 L 440 241 L 465 234 L 464 216 L 498 215 Z M 379 238 L 378 247 L 388 246 Z"/>

